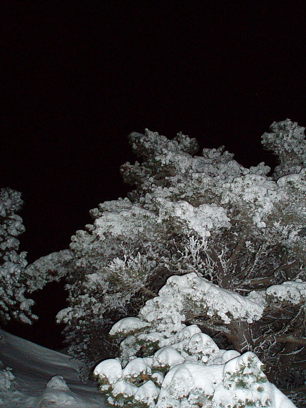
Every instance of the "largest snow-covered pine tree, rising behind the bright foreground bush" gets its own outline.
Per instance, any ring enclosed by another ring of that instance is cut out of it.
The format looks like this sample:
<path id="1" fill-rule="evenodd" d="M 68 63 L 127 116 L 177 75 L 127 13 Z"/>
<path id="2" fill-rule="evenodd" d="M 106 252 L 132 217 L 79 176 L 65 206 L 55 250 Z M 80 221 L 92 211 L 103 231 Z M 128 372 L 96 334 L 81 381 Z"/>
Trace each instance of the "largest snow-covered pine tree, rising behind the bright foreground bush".
<path id="1" fill-rule="evenodd" d="M 169 276 L 193 272 L 215 285 L 210 301 L 227 290 L 261 313 L 242 316 L 226 301 L 216 313 L 203 301 L 186 310 L 185 324 L 196 324 L 219 347 L 255 352 L 278 387 L 302 386 L 306 169 L 286 156 L 279 129 L 292 151 L 305 144 L 296 123 L 273 126 L 266 147 L 277 145 L 275 153 L 292 160 L 278 179 L 267 176 L 264 163 L 244 168 L 224 147 L 196 156 L 197 142 L 182 133 L 172 140 L 148 130 L 129 136 L 140 162 L 121 171 L 136 190 L 91 210 L 94 223 L 72 237 L 70 304 L 58 315 L 71 352 L 89 361 L 106 357 L 115 321 L 136 316 Z"/>

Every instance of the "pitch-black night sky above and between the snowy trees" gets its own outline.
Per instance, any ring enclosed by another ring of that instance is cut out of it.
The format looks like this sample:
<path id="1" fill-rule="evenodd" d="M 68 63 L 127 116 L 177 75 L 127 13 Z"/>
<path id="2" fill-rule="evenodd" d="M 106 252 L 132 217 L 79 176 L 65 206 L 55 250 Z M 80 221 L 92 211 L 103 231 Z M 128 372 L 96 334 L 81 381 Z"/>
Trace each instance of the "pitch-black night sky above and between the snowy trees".
<path id="1" fill-rule="evenodd" d="M 306 125 L 302 2 L 149 3 L 3 3 L 0 187 L 23 193 L 29 263 L 126 195 L 132 131 L 182 131 L 249 167 L 275 165 L 273 121 Z M 34 297 L 40 322 L 7 329 L 60 347 L 64 283 Z"/>

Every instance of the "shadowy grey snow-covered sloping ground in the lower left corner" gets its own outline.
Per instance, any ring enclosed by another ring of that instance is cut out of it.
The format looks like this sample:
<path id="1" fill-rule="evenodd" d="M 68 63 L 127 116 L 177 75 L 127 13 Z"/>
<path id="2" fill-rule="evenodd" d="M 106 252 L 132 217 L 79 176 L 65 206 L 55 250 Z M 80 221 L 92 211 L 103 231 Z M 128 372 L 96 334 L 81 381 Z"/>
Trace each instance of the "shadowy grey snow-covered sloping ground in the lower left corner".
<path id="1" fill-rule="evenodd" d="M 2 338 L 1 338 L 2 337 Z M 0 330 L 0 406 L 105 408 L 96 385 L 80 380 L 82 363 Z M 1 363 L 0 363 L 1 364 Z M 10 371 L 5 370 L 10 367 Z"/>

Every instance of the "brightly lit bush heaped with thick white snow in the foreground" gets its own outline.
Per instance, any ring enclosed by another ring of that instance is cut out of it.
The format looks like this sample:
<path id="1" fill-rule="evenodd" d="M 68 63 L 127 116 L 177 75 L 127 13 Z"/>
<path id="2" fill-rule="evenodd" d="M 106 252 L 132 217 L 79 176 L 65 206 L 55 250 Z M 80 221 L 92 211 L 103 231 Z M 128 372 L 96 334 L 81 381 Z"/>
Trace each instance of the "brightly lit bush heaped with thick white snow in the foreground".
<path id="1" fill-rule="evenodd" d="M 232 297 L 226 290 L 214 293 L 212 288 L 213 284 L 195 273 L 172 276 L 159 296 L 146 302 L 138 318 L 124 318 L 112 327 L 112 336 L 125 337 L 120 355 L 94 369 L 110 405 L 294 407 L 267 380 L 254 353 L 219 349 L 197 325 L 183 323 L 191 303 L 198 309 L 209 304 L 212 314 L 218 315 L 219 304 L 224 306 L 227 301 L 228 315 L 239 314 L 241 320 L 260 318 L 261 306 L 241 295 Z"/>

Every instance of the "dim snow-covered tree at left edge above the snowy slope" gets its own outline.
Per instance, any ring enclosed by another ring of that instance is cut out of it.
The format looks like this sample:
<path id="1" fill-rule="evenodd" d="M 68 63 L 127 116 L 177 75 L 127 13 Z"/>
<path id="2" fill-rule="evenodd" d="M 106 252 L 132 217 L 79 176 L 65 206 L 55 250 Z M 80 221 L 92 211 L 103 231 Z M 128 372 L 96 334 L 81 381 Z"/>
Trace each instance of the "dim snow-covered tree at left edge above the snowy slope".
<path id="1" fill-rule="evenodd" d="M 27 267 L 27 252 L 18 253 L 16 237 L 25 231 L 22 218 L 16 213 L 23 206 L 21 193 L 3 188 L 0 193 L 0 322 L 11 318 L 32 323 L 38 317 L 31 307 L 34 300 L 27 294 L 41 289 L 48 282 L 58 281 L 67 273 L 72 253 L 55 252 Z"/>

